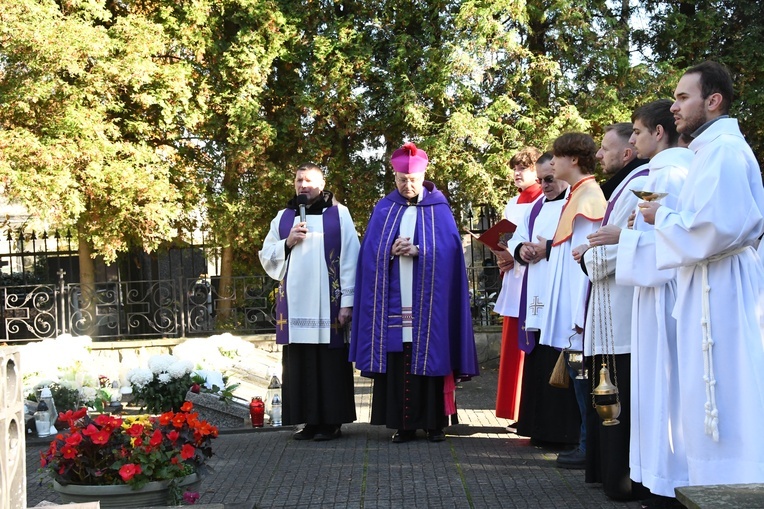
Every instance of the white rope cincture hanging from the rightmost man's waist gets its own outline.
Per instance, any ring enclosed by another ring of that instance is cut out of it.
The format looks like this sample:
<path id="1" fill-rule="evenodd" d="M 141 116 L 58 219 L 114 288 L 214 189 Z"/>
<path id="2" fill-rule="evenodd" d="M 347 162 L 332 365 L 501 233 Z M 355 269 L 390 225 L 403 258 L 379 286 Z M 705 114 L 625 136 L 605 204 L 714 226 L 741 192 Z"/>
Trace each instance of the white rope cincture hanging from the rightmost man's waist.
<path id="1" fill-rule="evenodd" d="M 748 247 L 749 246 L 742 246 L 723 251 L 717 255 L 709 256 L 698 264 L 701 268 L 703 284 L 700 325 L 703 331 L 703 380 L 706 382 L 705 431 L 706 435 L 709 435 L 714 439 L 714 442 L 719 441 L 719 408 L 716 406 L 716 378 L 714 377 L 713 357 L 714 340 L 711 337 L 711 300 L 709 298 L 711 285 L 708 284 L 708 264 L 718 262 L 729 256 L 740 254 L 748 249 Z"/>

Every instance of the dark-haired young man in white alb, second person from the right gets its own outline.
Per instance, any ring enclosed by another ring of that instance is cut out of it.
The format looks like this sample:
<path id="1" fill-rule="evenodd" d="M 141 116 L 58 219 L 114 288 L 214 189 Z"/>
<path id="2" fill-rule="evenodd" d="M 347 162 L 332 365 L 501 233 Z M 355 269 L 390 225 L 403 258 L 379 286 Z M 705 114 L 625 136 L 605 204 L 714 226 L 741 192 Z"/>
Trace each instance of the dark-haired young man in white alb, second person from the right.
<path id="1" fill-rule="evenodd" d="M 675 207 L 693 152 L 677 146 L 671 104 L 662 99 L 637 108 L 631 143 L 639 157 L 650 159 L 641 190 L 666 193 L 661 203 Z M 631 321 L 631 479 L 654 495 L 673 498 L 674 488 L 688 483 L 676 320 L 671 316 L 676 270 L 656 267 L 655 232 L 641 216 L 633 229 L 603 226 L 591 243 L 615 244 L 616 282 L 636 287 Z"/>

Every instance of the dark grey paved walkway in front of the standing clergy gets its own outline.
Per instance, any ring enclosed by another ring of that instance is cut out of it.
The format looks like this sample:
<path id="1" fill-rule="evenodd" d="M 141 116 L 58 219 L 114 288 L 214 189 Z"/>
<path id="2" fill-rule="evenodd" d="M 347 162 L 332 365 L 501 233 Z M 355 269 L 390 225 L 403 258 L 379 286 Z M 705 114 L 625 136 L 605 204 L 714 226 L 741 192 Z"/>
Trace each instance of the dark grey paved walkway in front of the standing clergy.
<path id="1" fill-rule="evenodd" d="M 393 444 L 370 426 L 371 384 L 358 378 L 358 423 L 330 442 L 291 440 L 291 428 L 222 434 L 213 443 L 200 504 L 257 508 L 554 508 L 636 509 L 613 502 L 581 470 L 555 467 L 556 451 L 534 447 L 496 419 L 496 371 L 461 384 L 461 424 L 448 440 Z M 421 433 L 421 432 L 420 432 Z M 27 446 L 27 500 L 58 502 L 38 471 L 44 444 Z"/>

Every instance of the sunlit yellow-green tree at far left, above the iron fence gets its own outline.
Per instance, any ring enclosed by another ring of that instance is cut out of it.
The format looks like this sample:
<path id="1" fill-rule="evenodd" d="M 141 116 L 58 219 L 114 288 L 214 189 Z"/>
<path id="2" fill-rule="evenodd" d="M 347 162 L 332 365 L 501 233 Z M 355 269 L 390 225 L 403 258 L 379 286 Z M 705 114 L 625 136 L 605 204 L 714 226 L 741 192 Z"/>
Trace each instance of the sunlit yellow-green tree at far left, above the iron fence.
<path id="1" fill-rule="evenodd" d="M 97 0 L 0 2 L 0 182 L 93 257 L 174 235 L 192 192 L 173 144 L 188 68 L 160 25 Z"/>

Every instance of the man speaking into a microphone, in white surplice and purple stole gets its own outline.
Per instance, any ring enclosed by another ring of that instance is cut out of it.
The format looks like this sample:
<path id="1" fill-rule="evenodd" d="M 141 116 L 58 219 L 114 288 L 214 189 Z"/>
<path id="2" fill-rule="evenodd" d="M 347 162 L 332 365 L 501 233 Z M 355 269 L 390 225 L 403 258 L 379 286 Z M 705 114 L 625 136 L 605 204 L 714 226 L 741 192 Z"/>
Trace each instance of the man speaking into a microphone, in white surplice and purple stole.
<path id="1" fill-rule="evenodd" d="M 353 311 L 360 242 L 347 207 L 324 191 L 312 163 L 295 173 L 296 195 L 271 221 L 260 251 L 276 296 L 276 342 L 284 345 L 283 423 L 295 440 L 332 440 L 356 419 L 345 327 Z"/>

